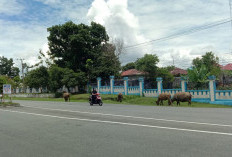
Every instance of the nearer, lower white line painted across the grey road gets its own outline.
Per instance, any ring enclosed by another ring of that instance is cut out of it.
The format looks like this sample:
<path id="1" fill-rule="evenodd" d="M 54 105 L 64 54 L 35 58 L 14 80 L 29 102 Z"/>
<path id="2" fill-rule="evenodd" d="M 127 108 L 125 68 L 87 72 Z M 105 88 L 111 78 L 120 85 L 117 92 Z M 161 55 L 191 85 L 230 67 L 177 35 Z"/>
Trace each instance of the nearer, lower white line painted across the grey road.
<path id="1" fill-rule="evenodd" d="M 51 117 L 51 118 L 59 118 L 59 119 L 79 120 L 79 121 L 108 123 L 108 124 L 120 124 L 120 125 L 128 125 L 128 126 L 139 126 L 139 127 L 147 127 L 147 128 L 158 128 L 158 129 L 167 129 L 167 130 L 178 130 L 178 131 L 187 131 L 187 132 L 197 132 L 197 133 L 207 133 L 207 134 L 217 134 L 217 135 L 232 136 L 232 133 L 225 133 L 225 132 L 213 132 L 213 131 L 204 131 L 204 130 L 192 130 L 192 129 L 162 127 L 162 126 L 155 126 L 155 125 L 143 125 L 143 124 L 136 124 L 136 123 L 123 123 L 123 122 L 116 122 L 116 121 L 102 121 L 102 120 L 93 120 L 93 119 L 61 117 L 61 116 L 38 114 L 38 113 L 32 113 L 32 112 L 12 111 L 12 110 L 4 110 L 4 109 L 0 109 L 0 110 L 5 111 L 5 112 L 21 113 L 21 114 L 28 114 L 28 115 L 34 115 L 34 116 L 43 116 L 43 117 Z"/>

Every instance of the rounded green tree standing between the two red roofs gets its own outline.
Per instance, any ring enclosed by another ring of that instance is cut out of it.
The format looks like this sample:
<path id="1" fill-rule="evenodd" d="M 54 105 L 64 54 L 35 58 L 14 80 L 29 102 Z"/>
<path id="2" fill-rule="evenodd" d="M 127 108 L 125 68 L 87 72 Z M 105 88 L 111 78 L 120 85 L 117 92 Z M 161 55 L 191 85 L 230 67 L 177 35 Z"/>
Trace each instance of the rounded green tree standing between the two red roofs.
<path id="1" fill-rule="evenodd" d="M 154 77 L 157 72 L 158 56 L 155 54 L 145 54 L 144 57 L 137 59 L 135 62 L 136 69 L 147 72 L 150 77 Z"/>

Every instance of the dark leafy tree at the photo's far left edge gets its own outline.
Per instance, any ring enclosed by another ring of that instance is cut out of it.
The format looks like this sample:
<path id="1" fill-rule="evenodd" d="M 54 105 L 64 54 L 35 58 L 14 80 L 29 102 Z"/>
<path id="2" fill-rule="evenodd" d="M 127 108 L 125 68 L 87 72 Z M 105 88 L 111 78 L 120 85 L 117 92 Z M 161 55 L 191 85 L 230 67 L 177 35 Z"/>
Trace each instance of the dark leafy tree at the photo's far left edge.
<path id="1" fill-rule="evenodd" d="M 0 57 L 0 75 L 7 75 L 11 78 L 19 75 L 19 68 L 14 67 L 12 58 Z"/>

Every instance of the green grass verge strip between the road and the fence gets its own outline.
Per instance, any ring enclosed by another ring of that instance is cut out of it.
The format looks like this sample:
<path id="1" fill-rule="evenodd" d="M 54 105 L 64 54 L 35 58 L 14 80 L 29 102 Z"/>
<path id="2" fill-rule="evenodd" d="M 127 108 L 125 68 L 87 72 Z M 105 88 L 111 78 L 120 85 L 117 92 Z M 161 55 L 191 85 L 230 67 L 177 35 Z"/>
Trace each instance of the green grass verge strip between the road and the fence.
<path id="1" fill-rule="evenodd" d="M 123 102 L 117 101 L 117 95 L 101 95 L 103 103 L 108 104 L 126 104 L 126 105 L 146 105 L 156 106 L 155 101 L 157 98 L 140 97 L 135 95 L 128 95 L 123 97 Z M 71 102 L 88 102 L 88 94 L 76 94 L 71 95 Z M 32 100 L 32 101 L 64 101 L 63 98 L 12 98 L 13 100 Z M 164 101 L 164 106 L 168 106 L 168 102 Z M 176 102 L 172 105 L 177 106 Z M 188 106 L 187 102 L 181 103 L 181 107 L 214 107 L 214 108 L 231 108 L 232 106 L 227 105 L 216 105 L 207 103 L 192 102 L 191 106 Z"/>

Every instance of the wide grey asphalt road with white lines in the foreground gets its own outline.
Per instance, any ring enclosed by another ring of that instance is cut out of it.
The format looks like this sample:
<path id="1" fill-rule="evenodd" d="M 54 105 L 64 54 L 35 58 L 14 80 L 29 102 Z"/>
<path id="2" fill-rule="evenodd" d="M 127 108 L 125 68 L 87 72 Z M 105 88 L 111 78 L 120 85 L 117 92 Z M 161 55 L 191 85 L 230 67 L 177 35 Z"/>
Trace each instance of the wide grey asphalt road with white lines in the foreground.
<path id="1" fill-rule="evenodd" d="M 231 157 L 232 109 L 17 101 L 1 157 Z"/>

